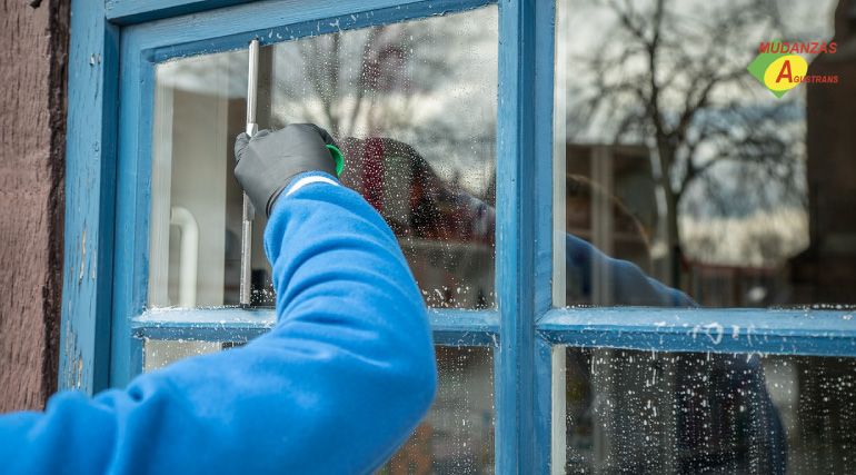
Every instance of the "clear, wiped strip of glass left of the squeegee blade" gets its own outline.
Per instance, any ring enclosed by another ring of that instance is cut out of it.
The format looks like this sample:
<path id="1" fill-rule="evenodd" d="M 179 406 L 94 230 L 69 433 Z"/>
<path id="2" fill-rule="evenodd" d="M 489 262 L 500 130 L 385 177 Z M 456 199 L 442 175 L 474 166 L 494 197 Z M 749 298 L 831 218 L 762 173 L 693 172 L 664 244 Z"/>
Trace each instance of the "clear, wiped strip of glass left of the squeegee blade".
<path id="1" fill-rule="evenodd" d="M 149 305 L 238 303 L 247 52 L 158 65 L 152 130 Z M 237 205 L 235 204 L 237 198 Z M 235 222 L 233 209 L 238 220 Z"/>

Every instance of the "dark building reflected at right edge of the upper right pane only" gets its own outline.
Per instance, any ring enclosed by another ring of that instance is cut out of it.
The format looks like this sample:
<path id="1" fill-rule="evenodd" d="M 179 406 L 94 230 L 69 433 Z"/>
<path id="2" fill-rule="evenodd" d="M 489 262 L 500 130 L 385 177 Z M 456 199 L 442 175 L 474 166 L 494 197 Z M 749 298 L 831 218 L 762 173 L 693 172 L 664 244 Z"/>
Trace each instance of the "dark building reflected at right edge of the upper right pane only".
<path id="1" fill-rule="evenodd" d="M 856 1 L 839 1 L 833 41 L 808 69 L 839 79 L 806 85 L 810 245 L 792 260 L 795 304 L 852 304 L 856 288 Z"/>

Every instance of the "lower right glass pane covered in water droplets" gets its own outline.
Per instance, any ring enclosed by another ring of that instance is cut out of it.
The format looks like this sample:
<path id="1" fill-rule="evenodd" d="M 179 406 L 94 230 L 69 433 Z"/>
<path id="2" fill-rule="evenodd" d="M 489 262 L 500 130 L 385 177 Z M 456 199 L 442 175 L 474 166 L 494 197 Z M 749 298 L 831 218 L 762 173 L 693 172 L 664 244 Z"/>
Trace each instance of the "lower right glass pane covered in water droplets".
<path id="1" fill-rule="evenodd" d="M 856 472 L 854 359 L 573 347 L 565 356 L 565 473 Z"/>

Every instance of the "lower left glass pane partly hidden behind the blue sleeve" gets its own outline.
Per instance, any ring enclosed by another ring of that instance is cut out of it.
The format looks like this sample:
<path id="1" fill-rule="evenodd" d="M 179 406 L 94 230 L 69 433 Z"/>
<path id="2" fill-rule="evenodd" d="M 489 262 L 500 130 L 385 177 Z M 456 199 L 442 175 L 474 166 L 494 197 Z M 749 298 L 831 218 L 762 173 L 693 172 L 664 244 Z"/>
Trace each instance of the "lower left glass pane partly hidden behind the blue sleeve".
<path id="1" fill-rule="evenodd" d="M 145 369 L 155 370 L 181 358 L 232 346 L 147 339 Z M 378 474 L 492 474 L 494 349 L 435 346 L 435 352 L 438 387 L 434 405 Z"/>

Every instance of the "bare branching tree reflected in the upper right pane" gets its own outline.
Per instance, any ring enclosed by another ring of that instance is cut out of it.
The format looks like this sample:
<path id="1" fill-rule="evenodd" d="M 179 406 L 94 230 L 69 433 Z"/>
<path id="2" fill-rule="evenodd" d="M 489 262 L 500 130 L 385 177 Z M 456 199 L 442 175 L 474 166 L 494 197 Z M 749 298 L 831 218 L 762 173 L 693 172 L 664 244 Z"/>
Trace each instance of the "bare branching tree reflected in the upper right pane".
<path id="1" fill-rule="evenodd" d="M 618 28 L 579 61 L 589 82 L 570 111 L 569 133 L 599 127 L 615 141 L 650 147 L 673 258 L 680 255 L 678 211 L 687 196 L 721 215 L 804 201 L 800 96 L 776 100 L 746 71 L 758 41 L 782 31 L 774 3 L 603 2 Z"/>

